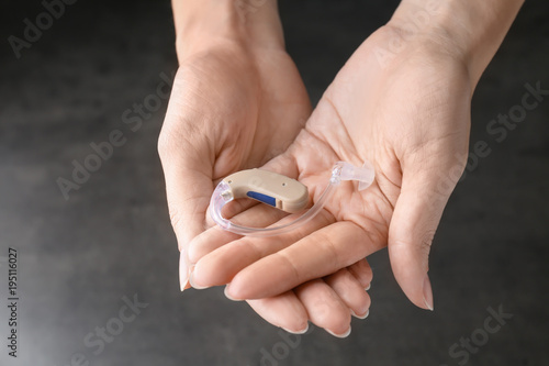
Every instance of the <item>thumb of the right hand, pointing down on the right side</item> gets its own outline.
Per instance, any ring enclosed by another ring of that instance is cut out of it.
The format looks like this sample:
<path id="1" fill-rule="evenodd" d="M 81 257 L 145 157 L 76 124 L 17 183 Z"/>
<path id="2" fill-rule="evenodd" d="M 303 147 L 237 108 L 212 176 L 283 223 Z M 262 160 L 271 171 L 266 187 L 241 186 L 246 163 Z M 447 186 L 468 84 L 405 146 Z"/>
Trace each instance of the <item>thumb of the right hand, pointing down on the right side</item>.
<path id="1" fill-rule="evenodd" d="M 430 245 L 455 179 L 433 179 L 436 174 L 404 173 L 402 189 L 389 228 L 389 257 L 394 277 L 417 307 L 434 310 L 427 275 Z M 458 178 L 459 179 L 459 178 Z"/>

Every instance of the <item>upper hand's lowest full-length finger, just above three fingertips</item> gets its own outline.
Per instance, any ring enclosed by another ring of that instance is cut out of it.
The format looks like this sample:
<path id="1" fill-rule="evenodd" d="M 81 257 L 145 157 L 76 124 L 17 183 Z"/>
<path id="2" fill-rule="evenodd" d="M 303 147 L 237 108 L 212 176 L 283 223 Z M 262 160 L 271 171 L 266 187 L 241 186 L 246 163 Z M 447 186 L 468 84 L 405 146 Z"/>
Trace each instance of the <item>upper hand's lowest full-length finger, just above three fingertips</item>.
<path id="1" fill-rule="evenodd" d="M 310 279 L 333 274 L 381 247 L 381 241 L 370 240 L 358 225 L 336 222 L 242 269 L 227 286 L 226 293 L 234 299 L 281 293 Z"/>

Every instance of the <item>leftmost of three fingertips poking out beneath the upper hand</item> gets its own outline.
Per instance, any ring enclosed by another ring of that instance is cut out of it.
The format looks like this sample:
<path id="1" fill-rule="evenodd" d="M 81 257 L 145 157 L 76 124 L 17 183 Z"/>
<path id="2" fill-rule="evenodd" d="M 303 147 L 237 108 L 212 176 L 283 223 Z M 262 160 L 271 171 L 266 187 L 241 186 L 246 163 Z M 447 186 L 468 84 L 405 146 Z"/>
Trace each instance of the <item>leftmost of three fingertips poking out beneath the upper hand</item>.
<path id="1" fill-rule="evenodd" d="M 247 302 L 259 317 L 290 333 L 303 334 L 309 329 L 305 307 L 293 291 Z"/>

